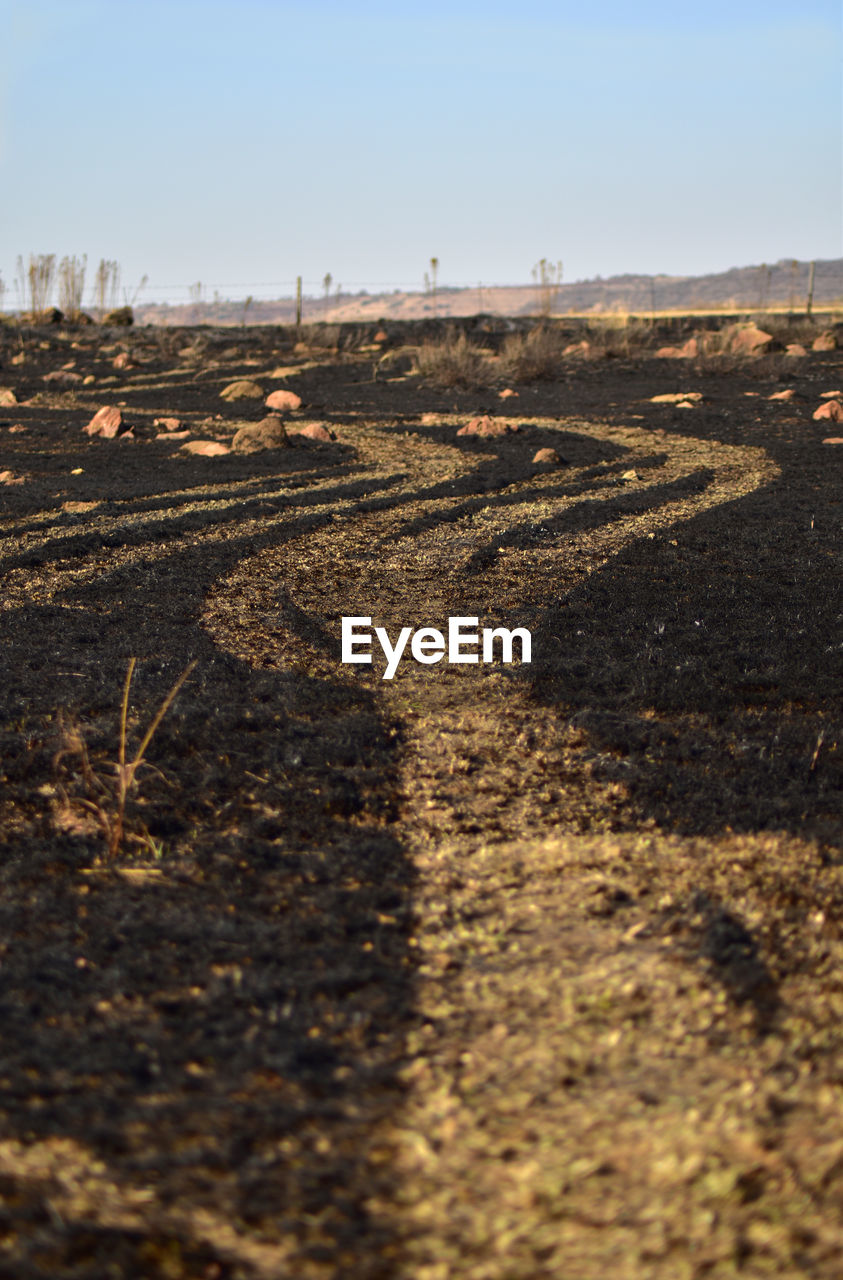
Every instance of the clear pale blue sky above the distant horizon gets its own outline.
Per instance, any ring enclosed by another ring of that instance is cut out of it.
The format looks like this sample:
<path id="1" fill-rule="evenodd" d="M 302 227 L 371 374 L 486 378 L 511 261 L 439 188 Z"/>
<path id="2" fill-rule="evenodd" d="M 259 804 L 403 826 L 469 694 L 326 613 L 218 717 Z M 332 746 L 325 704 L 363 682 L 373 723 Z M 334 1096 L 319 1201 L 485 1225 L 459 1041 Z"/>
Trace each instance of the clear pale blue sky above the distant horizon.
<path id="1" fill-rule="evenodd" d="M 843 255 L 839 0 L 0 0 L 0 273 L 145 297 Z M 180 287 L 180 288 L 179 288 Z"/>

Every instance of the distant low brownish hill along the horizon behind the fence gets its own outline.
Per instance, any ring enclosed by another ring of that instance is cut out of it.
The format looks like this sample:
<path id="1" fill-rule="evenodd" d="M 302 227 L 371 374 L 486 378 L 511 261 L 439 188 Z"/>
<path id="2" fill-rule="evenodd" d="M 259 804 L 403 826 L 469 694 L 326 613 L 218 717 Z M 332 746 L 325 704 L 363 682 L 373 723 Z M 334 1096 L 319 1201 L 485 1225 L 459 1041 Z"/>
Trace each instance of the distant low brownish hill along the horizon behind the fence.
<path id="1" fill-rule="evenodd" d="M 427 316 L 477 314 L 523 316 L 550 311 L 734 310 L 762 311 L 789 307 L 801 311 L 808 288 L 808 262 L 783 259 L 757 266 L 736 266 L 713 275 L 613 275 L 542 287 L 514 284 L 498 288 L 440 288 L 432 293 L 356 293 L 330 298 L 304 298 L 303 320 L 417 320 Z M 843 259 L 817 261 L 814 276 L 815 307 L 843 307 Z M 200 302 L 184 306 L 148 303 L 136 307 L 141 324 L 293 324 L 294 298 L 251 302 Z"/>

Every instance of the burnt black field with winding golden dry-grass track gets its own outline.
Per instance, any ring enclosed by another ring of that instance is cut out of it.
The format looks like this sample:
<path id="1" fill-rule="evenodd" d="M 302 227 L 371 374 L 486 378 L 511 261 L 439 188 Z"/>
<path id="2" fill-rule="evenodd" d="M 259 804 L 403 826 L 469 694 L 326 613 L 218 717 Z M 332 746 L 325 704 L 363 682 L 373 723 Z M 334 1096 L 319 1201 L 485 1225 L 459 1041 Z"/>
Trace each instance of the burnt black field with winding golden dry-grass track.
<path id="1" fill-rule="evenodd" d="M 375 329 L 0 328 L 0 1280 L 834 1280 L 843 352 Z"/>

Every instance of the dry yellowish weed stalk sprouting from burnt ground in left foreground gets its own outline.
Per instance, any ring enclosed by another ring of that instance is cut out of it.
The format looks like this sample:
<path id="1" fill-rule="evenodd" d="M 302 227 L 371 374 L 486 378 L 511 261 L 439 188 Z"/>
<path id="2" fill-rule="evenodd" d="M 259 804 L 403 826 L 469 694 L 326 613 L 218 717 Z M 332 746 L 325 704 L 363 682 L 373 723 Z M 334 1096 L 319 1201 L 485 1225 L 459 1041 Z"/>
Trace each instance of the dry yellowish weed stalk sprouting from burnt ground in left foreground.
<path id="1" fill-rule="evenodd" d="M 196 667 L 196 659 L 184 668 L 179 678 L 175 681 L 166 698 L 159 707 L 157 712 L 150 721 L 146 733 L 141 740 L 134 756 L 127 760 L 127 721 L 129 714 L 129 690 L 132 686 L 132 676 L 134 675 L 134 668 L 137 666 L 137 658 L 129 658 L 129 666 L 125 673 L 125 681 L 123 685 L 123 701 L 120 705 L 120 737 L 118 745 L 118 760 L 113 764 L 116 773 L 116 782 L 109 785 L 105 782 L 98 773 L 91 765 L 88 756 L 88 749 L 84 739 L 77 724 L 68 724 L 64 716 L 59 713 L 59 732 L 61 739 L 61 745 L 56 755 L 54 756 L 52 765 L 58 768 L 60 760 L 65 755 L 78 756 L 82 765 L 82 780 L 87 788 L 88 796 L 92 799 L 78 800 L 77 804 L 84 809 L 86 813 L 91 814 L 104 836 L 109 842 L 109 858 L 114 858 L 123 844 L 123 833 L 125 827 L 125 801 L 134 786 L 136 774 L 142 764 L 147 764 L 148 768 L 152 765 L 143 759 L 146 749 L 148 748 L 155 732 L 166 716 L 168 710 L 175 701 L 182 685 L 188 678 L 193 668 Z M 65 805 L 69 808 L 68 797 L 64 796 Z M 147 833 L 147 842 L 150 837 Z"/>

